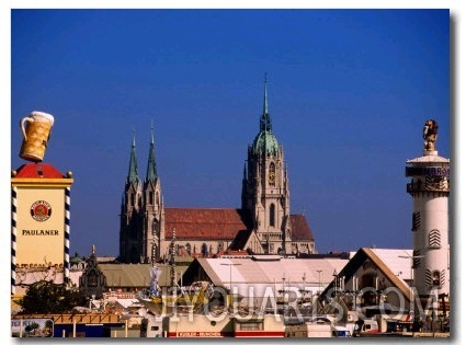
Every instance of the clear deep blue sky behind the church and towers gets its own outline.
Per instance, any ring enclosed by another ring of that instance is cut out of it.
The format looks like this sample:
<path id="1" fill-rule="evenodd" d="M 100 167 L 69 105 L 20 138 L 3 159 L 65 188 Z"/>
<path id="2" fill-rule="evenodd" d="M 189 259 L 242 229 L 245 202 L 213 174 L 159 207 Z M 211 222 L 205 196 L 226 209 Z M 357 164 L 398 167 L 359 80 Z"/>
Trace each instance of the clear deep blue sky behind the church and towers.
<path id="1" fill-rule="evenodd" d="M 53 114 L 71 253 L 118 254 L 132 128 L 144 179 L 152 120 L 167 207 L 240 207 L 265 72 L 292 212 L 321 253 L 410 248 L 425 119 L 451 157 L 447 10 L 13 10 L 11 27 L 11 169 L 20 119 Z"/>

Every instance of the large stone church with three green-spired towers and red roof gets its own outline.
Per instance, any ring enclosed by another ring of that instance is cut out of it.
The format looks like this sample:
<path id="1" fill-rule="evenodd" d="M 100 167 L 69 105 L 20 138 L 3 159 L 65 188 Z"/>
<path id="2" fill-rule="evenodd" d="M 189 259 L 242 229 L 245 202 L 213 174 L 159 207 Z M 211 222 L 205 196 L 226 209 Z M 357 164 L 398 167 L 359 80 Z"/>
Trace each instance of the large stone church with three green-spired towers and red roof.
<path id="1" fill-rule="evenodd" d="M 215 257 L 234 251 L 250 254 L 315 254 L 304 215 L 289 214 L 289 185 L 283 147 L 272 133 L 266 80 L 259 133 L 248 147 L 241 208 L 166 207 L 157 174 L 154 127 L 144 181 L 136 140 L 121 206 L 122 263 L 155 263 L 174 256 Z"/>

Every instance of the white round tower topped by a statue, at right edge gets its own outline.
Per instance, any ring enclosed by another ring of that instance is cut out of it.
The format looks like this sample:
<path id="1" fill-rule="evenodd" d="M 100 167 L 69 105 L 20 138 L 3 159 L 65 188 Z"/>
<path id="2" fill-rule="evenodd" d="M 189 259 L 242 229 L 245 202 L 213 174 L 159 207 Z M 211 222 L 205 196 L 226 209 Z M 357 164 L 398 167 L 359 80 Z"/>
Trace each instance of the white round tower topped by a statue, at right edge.
<path id="1" fill-rule="evenodd" d="M 422 156 L 408 160 L 407 193 L 412 197 L 412 278 L 414 314 L 445 314 L 450 301 L 448 196 L 450 159 L 435 148 L 439 125 L 423 126 Z"/>

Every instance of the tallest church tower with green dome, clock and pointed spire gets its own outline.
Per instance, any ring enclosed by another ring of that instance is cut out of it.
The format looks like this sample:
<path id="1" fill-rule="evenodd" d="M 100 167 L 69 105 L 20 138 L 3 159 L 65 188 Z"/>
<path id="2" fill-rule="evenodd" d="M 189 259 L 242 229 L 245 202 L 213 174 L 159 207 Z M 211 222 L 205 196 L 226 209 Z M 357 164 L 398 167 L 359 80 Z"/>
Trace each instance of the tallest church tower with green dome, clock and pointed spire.
<path id="1" fill-rule="evenodd" d="M 249 211 L 265 253 L 292 252 L 288 177 L 283 147 L 272 133 L 266 76 L 259 133 L 248 147 L 241 205 Z"/>

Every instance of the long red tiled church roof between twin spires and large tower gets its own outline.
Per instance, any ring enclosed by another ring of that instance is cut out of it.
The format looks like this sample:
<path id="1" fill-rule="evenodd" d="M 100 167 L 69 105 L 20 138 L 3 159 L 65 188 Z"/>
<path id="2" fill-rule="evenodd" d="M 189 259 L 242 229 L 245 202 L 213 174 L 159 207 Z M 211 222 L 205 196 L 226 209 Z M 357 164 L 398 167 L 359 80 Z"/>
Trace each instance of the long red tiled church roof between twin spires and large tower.
<path id="1" fill-rule="evenodd" d="M 246 212 L 236 208 L 166 208 L 166 239 L 232 240 L 248 228 Z"/>

